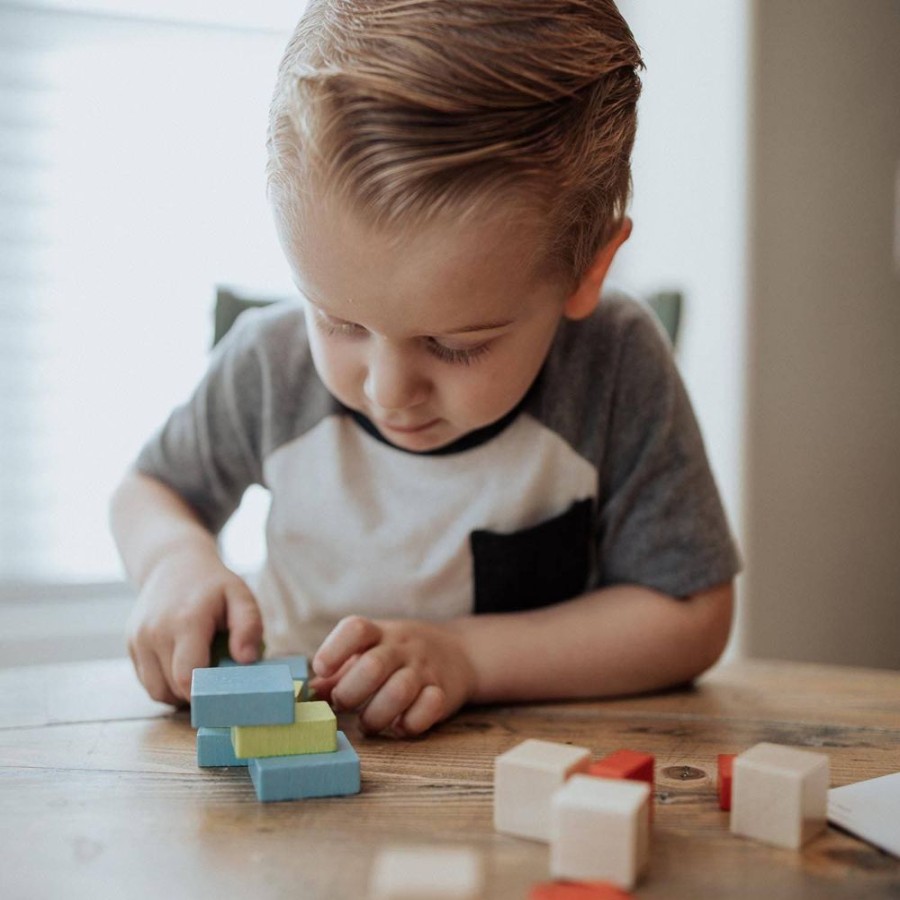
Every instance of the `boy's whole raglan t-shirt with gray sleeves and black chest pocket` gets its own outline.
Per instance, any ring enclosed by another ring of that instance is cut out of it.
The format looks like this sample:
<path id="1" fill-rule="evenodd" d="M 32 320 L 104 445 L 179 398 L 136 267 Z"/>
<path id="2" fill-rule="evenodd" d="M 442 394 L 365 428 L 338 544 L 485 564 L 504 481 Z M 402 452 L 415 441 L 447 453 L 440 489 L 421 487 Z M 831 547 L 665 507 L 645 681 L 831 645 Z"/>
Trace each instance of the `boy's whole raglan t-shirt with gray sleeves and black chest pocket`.
<path id="1" fill-rule="evenodd" d="M 429 453 L 342 406 L 305 329 L 299 303 L 242 315 L 137 461 L 213 532 L 269 490 L 267 652 L 312 654 L 353 613 L 514 612 L 616 584 L 683 598 L 737 572 L 671 350 L 636 302 L 564 320 L 516 409 Z"/>

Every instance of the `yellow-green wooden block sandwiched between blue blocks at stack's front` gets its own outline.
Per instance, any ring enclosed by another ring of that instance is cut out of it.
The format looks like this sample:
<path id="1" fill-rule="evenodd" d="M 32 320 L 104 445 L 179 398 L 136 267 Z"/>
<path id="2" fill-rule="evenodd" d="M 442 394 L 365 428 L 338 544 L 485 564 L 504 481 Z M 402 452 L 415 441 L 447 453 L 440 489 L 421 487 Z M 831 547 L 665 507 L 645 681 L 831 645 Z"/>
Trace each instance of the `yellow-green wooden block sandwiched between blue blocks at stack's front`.
<path id="1" fill-rule="evenodd" d="M 293 725 L 235 725 L 231 743 L 238 759 L 334 753 L 337 718 L 324 700 L 294 704 Z"/>

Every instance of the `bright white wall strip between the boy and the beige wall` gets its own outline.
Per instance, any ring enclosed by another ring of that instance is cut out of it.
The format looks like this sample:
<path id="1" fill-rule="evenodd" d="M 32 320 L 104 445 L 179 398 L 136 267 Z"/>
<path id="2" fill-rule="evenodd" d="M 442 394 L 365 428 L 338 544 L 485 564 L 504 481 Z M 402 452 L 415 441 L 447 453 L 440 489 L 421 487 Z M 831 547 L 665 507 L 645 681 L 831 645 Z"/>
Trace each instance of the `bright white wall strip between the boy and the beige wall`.
<path id="1" fill-rule="evenodd" d="M 634 233 L 612 278 L 685 294 L 678 360 L 739 541 L 744 417 L 747 0 L 622 0 L 646 64 Z M 740 628 L 732 649 L 740 644 Z"/>

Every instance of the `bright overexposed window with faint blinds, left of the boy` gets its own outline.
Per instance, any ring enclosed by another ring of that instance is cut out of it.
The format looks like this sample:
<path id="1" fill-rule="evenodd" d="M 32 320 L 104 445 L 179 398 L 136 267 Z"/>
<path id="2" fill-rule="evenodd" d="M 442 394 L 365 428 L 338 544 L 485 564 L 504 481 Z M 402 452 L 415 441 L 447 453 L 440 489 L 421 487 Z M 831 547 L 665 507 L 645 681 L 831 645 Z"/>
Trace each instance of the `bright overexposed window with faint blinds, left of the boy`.
<path id="1" fill-rule="evenodd" d="M 264 141 L 298 5 L 141 5 L 0 2 L 0 585 L 121 577 L 108 498 L 200 377 L 215 285 L 292 290 Z"/>

